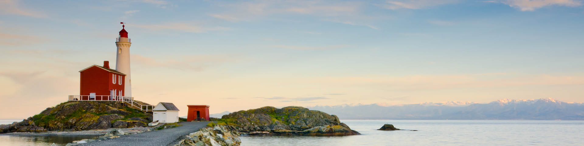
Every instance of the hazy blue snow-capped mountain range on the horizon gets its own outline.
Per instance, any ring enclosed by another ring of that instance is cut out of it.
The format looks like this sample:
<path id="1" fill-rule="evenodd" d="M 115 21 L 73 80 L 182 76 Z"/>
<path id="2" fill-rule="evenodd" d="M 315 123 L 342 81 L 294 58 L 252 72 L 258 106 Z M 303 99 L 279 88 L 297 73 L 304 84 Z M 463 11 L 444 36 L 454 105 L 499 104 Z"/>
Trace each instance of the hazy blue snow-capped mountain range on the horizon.
<path id="1" fill-rule="evenodd" d="M 444 102 L 411 105 L 313 106 L 340 119 L 395 120 L 584 120 L 584 104 L 552 98 L 501 99 L 490 103 Z"/>

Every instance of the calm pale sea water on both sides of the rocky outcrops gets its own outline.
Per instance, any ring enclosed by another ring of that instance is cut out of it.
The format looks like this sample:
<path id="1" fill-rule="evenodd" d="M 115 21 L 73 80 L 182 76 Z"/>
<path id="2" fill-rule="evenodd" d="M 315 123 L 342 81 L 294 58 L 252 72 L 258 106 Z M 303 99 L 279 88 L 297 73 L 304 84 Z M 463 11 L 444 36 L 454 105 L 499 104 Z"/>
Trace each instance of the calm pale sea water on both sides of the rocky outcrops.
<path id="1" fill-rule="evenodd" d="M 20 120 L 13 120 L 20 121 Z M 13 121 L 9 121 L 12 123 Z M 0 120 L 5 123 L 5 121 Z M 582 145 L 584 121 L 342 120 L 362 135 L 241 137 L 242 145 Z M 394 124 L 400 131 L 376 130 Z M 419 131 L 408 131 L 419 130 Z M 86 137 L 0 135 L 0 145 L 66 144 Z"/>

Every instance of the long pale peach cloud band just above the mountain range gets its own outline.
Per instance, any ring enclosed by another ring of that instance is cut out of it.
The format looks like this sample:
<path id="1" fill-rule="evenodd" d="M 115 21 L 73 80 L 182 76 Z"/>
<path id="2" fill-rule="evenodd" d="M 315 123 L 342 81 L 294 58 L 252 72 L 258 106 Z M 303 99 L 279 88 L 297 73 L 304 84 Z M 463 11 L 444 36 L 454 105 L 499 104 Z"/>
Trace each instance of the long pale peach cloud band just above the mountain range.
<path id="1" fill-rule="evenodd" d="M 407 75 L 366 77 L 326 77 L 310 79 L 340 86 L 385 86 L 391 89 L 453 89 L 491 88 L 533 85 L 579 85 L 584 84 L 584 76 L 554 75 L 506 75 L 506 74 L 463 74 L 463 75 Z"/>

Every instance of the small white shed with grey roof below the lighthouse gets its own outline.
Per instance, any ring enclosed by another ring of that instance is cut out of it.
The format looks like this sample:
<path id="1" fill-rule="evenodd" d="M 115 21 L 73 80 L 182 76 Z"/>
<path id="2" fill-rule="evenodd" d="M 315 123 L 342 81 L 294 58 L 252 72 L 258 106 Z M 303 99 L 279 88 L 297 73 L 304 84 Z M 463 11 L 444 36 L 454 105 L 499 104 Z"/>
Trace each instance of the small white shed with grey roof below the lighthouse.
<path id="1" fill-rule="evenodd" d="M 179 121 L 179 109 L 175 104 L 161 102 L 152 109 L 152 121 L 159 123 L 175 123 Z"/>

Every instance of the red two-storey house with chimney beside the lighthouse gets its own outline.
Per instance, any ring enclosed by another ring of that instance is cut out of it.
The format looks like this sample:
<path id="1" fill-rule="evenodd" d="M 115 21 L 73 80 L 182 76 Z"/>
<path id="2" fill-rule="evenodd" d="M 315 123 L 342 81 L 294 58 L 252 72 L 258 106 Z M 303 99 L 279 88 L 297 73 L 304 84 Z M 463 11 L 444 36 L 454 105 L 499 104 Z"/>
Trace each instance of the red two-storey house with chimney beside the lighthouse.
<path id="1" fill-rule="evenodd" d="M 103 67 L 91 65 L 79 72 L 81 96 L 77 100 L 122 100 L 126 74 L 109 68 L 109 61 L 103 61 Z"/>

